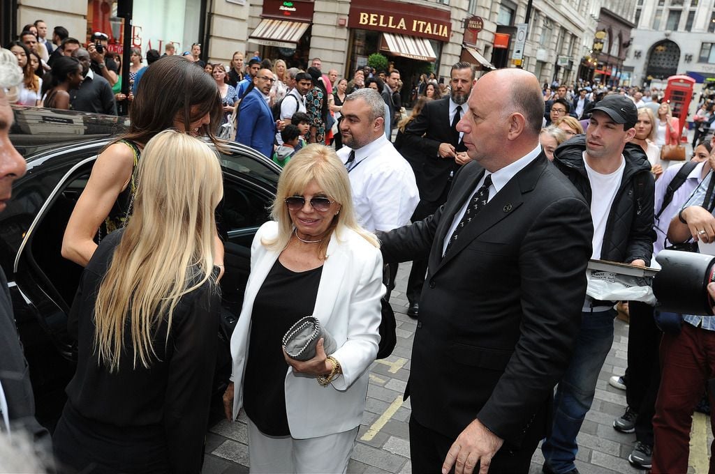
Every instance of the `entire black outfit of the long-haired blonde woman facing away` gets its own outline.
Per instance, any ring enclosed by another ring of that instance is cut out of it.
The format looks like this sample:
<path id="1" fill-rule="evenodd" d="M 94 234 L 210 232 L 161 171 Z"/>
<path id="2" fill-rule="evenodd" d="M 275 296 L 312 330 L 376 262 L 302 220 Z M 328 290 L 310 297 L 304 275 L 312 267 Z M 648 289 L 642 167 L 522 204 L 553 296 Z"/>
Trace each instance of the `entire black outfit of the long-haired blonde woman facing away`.
<path id="1" fill-rule="evenodd" d="M 61 472 L 199 473 L 216 363 L 221 297 L 204 283 L 184 295 L 154 336 L 149 368 L 133 368 L 125 331 L 119 370 L 97 360 L 94 302 L 123 231 L 102 240 L 82 273 L 69 315 L 79 336 L 77 373 L 53 436 Z"/>

